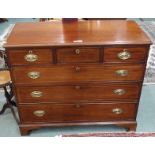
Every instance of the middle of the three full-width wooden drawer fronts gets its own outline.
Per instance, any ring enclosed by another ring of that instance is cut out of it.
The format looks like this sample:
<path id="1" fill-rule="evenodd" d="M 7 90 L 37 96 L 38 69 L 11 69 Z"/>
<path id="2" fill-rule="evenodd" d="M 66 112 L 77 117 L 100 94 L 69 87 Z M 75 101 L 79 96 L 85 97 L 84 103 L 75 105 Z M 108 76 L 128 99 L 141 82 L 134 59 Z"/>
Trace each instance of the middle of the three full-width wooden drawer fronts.
<path id="1" fill-rule="evenodd" d="M 77 84 L 67 86 L 18 86 L 18 101 L 23 103 L 103 101 L 136 101 L 140 84 Z"/>

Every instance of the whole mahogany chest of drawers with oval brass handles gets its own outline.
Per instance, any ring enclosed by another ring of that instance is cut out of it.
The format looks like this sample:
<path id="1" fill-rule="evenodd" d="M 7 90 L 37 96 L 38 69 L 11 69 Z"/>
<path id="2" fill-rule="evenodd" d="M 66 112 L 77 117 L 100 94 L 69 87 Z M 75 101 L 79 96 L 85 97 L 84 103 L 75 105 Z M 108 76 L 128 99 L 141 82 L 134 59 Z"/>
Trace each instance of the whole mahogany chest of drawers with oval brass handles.
<path id="1" fill-rule="evenodd" d="M 73 125 L 136 130 L 150 44 L 133 21 L 16 24 L 5 48 L 21 134 Z"/>

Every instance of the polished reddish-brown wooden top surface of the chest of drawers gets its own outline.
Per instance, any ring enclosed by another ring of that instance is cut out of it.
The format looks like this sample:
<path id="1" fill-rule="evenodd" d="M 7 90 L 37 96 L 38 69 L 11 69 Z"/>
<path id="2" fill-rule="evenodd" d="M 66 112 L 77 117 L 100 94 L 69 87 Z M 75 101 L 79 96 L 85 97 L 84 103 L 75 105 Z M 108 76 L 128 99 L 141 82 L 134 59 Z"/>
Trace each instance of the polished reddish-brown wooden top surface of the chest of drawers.
<path id="1" fill-rule="evenodd" d="M 17 23 L 4 47 L 151 44 L 134 21 Z"/>

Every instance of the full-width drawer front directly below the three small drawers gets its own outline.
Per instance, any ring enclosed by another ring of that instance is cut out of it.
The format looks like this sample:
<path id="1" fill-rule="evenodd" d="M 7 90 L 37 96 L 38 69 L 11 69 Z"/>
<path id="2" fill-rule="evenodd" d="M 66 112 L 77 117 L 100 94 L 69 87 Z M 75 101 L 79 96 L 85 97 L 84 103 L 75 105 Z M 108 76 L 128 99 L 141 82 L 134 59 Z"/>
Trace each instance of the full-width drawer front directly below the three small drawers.
<path id="1" fill-rule="evenodd" d="M 129 81 L 143 79 L 144 65 L 57 65 L 51 67 L 14 67 L 12 71 L 14 74 L 14 82 L 20 84 L 77 81 Z"/>

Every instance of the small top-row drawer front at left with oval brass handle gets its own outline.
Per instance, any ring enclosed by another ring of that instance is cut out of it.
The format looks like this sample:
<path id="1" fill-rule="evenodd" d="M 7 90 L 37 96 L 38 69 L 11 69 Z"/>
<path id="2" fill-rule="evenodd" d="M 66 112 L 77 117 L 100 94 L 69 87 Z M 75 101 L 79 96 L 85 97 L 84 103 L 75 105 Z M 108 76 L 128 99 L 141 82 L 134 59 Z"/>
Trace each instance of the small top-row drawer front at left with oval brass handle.
<path id="1" fill-rule="evenodd" d="M 48 64 L 53 62 L 51 49 L 10 50 L 8 57 L 11 65 Z"/>

